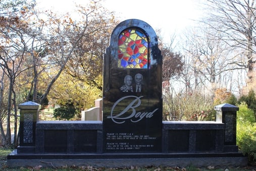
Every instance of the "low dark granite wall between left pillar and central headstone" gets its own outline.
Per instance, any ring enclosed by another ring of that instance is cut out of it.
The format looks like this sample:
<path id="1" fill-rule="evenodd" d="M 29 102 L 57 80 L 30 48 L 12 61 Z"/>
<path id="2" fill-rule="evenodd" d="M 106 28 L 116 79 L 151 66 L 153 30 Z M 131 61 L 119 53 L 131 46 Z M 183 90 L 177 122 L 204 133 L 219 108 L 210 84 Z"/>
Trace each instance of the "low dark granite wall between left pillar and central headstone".
<path id="1" fill-rule="evenodd" d="M 35 153 L 101 153 L 101 121 L 39 121 Z"/>

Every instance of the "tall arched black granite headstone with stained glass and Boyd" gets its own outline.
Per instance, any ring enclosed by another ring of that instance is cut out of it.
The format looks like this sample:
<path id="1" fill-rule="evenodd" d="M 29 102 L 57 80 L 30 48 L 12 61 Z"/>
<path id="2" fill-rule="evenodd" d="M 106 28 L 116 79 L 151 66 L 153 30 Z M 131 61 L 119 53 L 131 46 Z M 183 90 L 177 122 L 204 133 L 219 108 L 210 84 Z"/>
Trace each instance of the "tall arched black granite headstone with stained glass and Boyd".
<path id="1" fill-rule="evenodd" d="M 103 152 L 162 151 L 162 55 L 155 31 L 120 23 L 104 58 Z"/>

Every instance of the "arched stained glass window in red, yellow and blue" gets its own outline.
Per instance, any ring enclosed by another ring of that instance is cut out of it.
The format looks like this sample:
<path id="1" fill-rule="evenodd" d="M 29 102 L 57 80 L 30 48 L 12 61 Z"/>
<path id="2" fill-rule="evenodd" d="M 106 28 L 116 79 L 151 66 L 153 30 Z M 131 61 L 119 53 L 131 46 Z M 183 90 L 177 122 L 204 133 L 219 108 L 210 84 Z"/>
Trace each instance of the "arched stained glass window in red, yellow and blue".
<path id="1" fill-rule="evenodd" d="M 148 41 L 146 35 L 138 29 L 123 31 L 118 39 L 119 68 L 147 68 Z"/>

